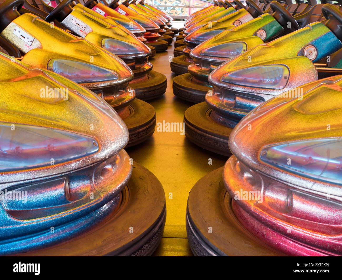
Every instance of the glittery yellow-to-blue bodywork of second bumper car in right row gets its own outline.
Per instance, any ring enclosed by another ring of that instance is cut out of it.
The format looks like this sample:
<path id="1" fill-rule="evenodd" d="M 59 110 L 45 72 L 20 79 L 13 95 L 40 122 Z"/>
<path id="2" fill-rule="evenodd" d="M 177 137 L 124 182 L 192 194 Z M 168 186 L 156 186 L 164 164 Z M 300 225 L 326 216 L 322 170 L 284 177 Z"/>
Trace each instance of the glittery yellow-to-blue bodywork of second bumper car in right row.
<path id="1" fill-rule="evenodd" d="M 269 43 L 260 44 L 211 72 L 208 81 L 213 85 L 213 91 L 211 95 L 206 96 L 208 105 L 214 110 L 216 107 L 220 107 L 221 114 L 228 119 L 239 120 L 251 109 L 275 95 L 279 95 L 282 91 L 291 91 L 292 89 L 300 91 L 303 84 L 313 82 L 318 77 L 313 62 L 302 55 L 303 49 L 308 44 L 317 46 L 319 59 L 342 47 L 338 38 L 320 22 L 312 23 Z M 240 79 L 248 80 L 251 78 L 249 72 L 254 69 L 253 67 L 273 65 L 283 65 L 289 69 L 289 75 L 281 77 L 287 80 L 285 88 L 267 89 L 261 80 L 260 82 L 256 81 L 255 86 L 223 81 L 225 75 L 234 72 L 239 73 Z M 238 72 L 240 70 L 242 72 Z"/>

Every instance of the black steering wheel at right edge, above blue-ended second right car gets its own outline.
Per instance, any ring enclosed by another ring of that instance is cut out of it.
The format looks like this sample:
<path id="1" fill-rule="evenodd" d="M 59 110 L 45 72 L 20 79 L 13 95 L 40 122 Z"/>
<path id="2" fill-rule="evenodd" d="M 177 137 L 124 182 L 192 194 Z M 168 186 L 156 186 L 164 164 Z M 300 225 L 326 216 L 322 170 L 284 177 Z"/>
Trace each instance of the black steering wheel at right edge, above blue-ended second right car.
<path id="1" fill-rule="evenodd" d="M 332 4 L 324 4 L 322 13 L 327 19 L 324 24 L 333 34 L 341 41 L 342 40 L 342 13 Z"/>

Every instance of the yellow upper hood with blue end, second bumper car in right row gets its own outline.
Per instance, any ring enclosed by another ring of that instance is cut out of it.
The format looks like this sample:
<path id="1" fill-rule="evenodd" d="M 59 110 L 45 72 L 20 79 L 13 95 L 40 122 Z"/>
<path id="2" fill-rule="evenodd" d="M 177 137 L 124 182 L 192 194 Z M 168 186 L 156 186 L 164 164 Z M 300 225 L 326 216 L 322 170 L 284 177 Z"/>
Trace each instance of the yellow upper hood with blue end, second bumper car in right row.
<path id="1" fill-rule="evenodd" d="M 319 50 L 316 56 L 317 61 L 342 47 L 341 42 L 325 25 L 316 22 L 232 58 L 211 72 L 208 81 L 220 88 L 242 93 L 262 93 L 271 97 L 277 93 L 275 89 L 263 88 L 260 83 L 256 83 L 255 86 L 227 83 L 222 81 L 223 76 L 229 76 L 236 71 L 240 71 L 239 75 L 242 75 L 241 70 L 252 67 L 284 65 L 289 70 L 286 88 L 297 88 L 317 80 L 317 70 L 314 64 L 303 56 L 303 49 L 307 45 L 316 46 Z M 244 77 L 241 76 L 241 78 Z"/>

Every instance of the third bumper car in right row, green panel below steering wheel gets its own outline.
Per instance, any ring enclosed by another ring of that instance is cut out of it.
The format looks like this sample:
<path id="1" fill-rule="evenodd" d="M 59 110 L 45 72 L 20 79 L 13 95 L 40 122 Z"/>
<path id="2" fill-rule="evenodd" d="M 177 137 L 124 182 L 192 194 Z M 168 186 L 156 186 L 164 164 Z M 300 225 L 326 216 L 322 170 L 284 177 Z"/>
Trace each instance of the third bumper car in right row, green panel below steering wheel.
<path id="1" fill-rule="evenodd" d="M 247 0 L 246 3 L 256 6 L 250 0 Z M 188 66 L 188 73 L 173 79 L 173 93 L 190 102 L 203 102 L 206 93 L 212 90 L 212 86 L 208 83 L 208 76 L 212 70 L 254 46 L 298 30 L 300 26 L 296 19 L 302 19 L 302 15 L 306 17 L 306 11 L 312 7 L 312 4 L 314 3 L 293 4 L 287 10 L 280 3 L 273 1 L 270 4 L 272 14 L 262 14 L 196 46 L 190 52 L 193 63 Z M 317 21 L 312 12 L 321 9 L 322 6 L 323 4 L 313 6 L 309 23 Z M 259 9 L 258 6 L 255 8 Z M 295 14 L 296 12 L 298 14 Z M 320 18 L 320 21 L 323 20 L 325 17 Z"/>

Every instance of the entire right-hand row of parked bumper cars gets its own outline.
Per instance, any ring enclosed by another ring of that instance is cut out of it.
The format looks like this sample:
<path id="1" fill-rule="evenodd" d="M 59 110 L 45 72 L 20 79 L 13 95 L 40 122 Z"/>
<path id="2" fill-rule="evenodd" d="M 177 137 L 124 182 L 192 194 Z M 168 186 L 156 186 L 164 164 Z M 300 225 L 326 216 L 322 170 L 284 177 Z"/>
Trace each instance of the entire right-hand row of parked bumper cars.
<path id="1" fill-rule="evenodd" d="M 229 156 L 187 204 L 195 255 L 342 254 L 342 2 L 215 3 L 175 41 L 185 135 Z"/>

